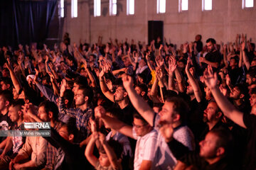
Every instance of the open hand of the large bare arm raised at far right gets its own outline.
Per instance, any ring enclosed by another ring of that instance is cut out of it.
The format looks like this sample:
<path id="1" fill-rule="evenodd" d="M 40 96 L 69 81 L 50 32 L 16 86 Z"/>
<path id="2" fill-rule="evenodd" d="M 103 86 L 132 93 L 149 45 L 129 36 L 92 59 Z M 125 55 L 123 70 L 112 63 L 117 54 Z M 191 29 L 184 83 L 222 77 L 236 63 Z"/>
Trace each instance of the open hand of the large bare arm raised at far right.
<path id="1" fill-rule="evenodd" d="M 206 86 L 208 86 L 210 89 L 217 86 L 217 73 L 213 73 L 213 68 L 210 65 L 208 65 L 208 68 L 203 72 L 203 77 Z"/>

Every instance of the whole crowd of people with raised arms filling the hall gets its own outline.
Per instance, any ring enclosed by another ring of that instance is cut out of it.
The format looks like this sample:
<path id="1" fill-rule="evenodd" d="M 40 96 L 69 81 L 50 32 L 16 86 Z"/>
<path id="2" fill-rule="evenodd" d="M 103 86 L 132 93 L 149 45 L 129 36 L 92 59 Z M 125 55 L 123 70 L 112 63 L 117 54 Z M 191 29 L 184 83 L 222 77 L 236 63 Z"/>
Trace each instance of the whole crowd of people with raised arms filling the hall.
<path id="1" fill-rule="evenodd" d="M 256 169 L 256 51 L 102 37 L 0 48 L 0 169 Z"/>

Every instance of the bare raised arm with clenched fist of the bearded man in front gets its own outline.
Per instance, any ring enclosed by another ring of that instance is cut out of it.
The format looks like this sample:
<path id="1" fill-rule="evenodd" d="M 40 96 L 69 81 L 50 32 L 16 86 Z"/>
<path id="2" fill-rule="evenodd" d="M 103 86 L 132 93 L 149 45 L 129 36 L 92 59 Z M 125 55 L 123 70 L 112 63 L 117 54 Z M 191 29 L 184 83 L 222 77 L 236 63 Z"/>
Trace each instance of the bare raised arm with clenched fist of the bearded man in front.
<path id="1" fill-rule="evenodd" d="M 124 74 L 122 81 L 134 108 L 138 111 L 139 114 L 142 115 L 142 117 L 149 123 L 149 125 L 153 126 L 155 113 L 152 108 L 150 108 L 148 103 L 146 103 L 146 101 L 144 101 L 144 99 L 134 90 L 132 86 L 132 77 Z"/>

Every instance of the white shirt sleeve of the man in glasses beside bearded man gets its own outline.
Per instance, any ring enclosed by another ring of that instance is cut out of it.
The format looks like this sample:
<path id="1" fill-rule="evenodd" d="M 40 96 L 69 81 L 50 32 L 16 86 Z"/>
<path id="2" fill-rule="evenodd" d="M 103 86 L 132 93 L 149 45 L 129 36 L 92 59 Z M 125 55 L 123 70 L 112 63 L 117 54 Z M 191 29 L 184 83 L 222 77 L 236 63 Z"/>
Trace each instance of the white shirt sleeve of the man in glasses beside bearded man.
<path id="1" fill-rule="evenodd" d="M 142 160 L 153 161 L 155 157 L 157 143 L 157 132 L 151 132 L 150 137 L 146 140 L 144 145 L 144 155 Z"/>

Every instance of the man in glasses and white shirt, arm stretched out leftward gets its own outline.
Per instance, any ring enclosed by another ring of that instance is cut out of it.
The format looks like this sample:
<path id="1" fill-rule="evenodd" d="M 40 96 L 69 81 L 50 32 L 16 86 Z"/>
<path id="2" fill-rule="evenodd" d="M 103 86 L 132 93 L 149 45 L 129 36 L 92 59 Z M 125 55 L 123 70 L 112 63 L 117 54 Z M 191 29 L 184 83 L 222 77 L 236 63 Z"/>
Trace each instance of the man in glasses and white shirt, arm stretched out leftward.
<path id="1" fill-rule="evenodd" d="M 133 127 L 106 115 L 102 106 L 95 108 L 95 116 L 102 118 L 105 125 L 137 140 L 134 154 L 134 169 L 154 169 L 156 159 L 157 132 L 139 114 L 134 114 Z"/>

